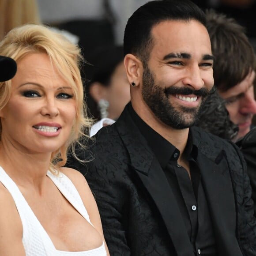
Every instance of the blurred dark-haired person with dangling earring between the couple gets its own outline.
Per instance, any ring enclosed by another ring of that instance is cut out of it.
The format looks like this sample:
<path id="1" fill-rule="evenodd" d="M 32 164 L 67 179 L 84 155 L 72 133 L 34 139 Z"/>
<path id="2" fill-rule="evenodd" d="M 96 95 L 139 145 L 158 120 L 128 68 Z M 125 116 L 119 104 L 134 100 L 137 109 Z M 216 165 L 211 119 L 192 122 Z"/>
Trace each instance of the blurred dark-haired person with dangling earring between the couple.
<path id="1" fill-rule="evenodd" d="M 93 136 L 103 126 L 113 124 L 130 101 L 130 86 L 124 68 L 123 46 L 105 46 L 87 58 L 87 106 L 97 122 L 90 128 Z"/>

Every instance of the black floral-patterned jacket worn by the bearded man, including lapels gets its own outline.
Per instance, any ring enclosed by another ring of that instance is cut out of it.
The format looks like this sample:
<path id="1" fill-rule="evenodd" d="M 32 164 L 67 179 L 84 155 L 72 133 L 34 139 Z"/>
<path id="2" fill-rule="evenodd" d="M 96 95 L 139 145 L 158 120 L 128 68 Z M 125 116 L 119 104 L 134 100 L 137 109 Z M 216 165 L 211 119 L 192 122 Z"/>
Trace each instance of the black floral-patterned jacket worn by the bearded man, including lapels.
<path id="1" fill-rule="evenodd" d="M 191 130 L 219 256 L 256 255 L 256 219 L 241 152 Z M 86 166 L 70 160 L 94 193 L 111 256 L 194 256 L 173 192 L 127 107 L 98 132 Z M 87 151 L 79 152 L 82 158 Z"/>

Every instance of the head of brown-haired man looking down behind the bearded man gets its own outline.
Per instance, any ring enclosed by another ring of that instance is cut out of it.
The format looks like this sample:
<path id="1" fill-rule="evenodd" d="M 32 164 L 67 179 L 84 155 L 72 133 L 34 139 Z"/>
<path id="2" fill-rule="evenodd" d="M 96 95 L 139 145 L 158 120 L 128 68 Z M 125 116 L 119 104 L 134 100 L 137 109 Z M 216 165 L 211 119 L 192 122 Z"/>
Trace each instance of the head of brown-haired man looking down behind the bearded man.
<path id="1" fill-rule="evenodd" d="M 239 127 L 238 140 L 250 131 L 256 114 L 255 53 L 244 28 L 234 19 L 213 10 L 207 11 L 206 17 L 215 56 L 215 86 L 226 102 L 230 120 Z"/>

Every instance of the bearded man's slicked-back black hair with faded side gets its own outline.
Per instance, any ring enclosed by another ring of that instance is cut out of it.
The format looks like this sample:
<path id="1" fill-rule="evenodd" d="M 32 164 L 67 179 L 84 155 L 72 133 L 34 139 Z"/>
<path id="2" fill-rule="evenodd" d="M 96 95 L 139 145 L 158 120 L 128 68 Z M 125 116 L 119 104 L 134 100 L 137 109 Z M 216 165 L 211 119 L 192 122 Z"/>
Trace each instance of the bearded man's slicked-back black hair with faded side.
<path id="1" fill-rule="evenodd" d="M 153 47 L 153 26 L 166 20 L 192 19 L 205 26 L 203 11 L 190 0 L 155 0 L 144 4 L 128 19 L 124 30 L 124 55 L 132 53 L 147 63 Z"/>

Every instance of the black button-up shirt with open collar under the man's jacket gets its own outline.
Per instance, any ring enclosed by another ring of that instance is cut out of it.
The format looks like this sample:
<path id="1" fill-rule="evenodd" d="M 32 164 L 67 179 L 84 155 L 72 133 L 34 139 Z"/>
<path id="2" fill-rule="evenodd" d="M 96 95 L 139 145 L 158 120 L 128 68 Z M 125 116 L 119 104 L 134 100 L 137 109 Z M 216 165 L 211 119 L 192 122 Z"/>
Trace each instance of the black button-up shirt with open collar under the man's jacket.
<path id="1" fill-rule="evenodd" d="M 136 114 L 131 104 L 128 109 L 166 175 L 177 200 L 195 255 L 216 256 L 217 249 L 211 216 L 201 181 L 201 171 L 196 162 L 198 149 L 193 144 L 191 132 L 188 134 L 188 142 L 184 151 L 189 163 L 190 179 L 187 170 L 177 163 L 180 151 L 149 127 Z"/>

